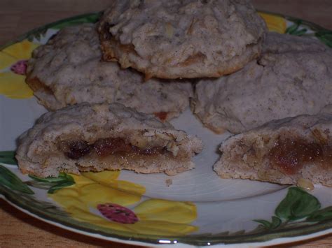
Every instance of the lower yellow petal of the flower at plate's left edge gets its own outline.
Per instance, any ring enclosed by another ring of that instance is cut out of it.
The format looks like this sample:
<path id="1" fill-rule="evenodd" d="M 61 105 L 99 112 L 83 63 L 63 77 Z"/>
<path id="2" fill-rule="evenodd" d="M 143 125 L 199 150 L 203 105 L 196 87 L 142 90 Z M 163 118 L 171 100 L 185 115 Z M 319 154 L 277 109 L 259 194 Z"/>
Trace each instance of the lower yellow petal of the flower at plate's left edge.
<path id="1" fill-rule="evenodd" d="M 27 99 L 33 96 L 32 89 L 25 83 L 25 75 L 12 72 L 0 73 L 0 94 L 11 99 Z"/>

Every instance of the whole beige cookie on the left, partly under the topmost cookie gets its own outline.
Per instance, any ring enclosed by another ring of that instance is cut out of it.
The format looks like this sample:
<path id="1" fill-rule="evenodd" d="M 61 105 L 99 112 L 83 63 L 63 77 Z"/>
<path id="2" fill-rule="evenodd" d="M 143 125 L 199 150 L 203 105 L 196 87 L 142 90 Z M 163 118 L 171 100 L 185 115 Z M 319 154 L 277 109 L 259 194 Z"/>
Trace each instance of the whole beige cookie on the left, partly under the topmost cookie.
<path id="1" fill-rule="evenodd" d="M 136 71 L 123 70 L 101 57 L 93 24 L 64 28 L 34 51 L 27 66 L 27 83 L 48 110 L 82 102 L 117 102 L 171 119 L 188 107 L 193 95 L 190 82 L 144 82 Z"/>

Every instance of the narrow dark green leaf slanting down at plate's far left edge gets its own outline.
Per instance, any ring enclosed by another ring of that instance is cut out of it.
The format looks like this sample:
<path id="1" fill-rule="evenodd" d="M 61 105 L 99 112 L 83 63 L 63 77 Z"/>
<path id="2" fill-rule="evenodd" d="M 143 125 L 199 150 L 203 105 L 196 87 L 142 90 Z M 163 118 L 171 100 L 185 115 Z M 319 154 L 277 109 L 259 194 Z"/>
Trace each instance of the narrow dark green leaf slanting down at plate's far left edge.
<path id="1" fill-rule="evenodd" d="M 9 189 L 20 191 L 21 193 L 34 194 L 34 191 L 27 187 L 27 185 L 22 182 L 20 178 L 4 166 L 0 166 L 0 184 L 5 185 Z"/>

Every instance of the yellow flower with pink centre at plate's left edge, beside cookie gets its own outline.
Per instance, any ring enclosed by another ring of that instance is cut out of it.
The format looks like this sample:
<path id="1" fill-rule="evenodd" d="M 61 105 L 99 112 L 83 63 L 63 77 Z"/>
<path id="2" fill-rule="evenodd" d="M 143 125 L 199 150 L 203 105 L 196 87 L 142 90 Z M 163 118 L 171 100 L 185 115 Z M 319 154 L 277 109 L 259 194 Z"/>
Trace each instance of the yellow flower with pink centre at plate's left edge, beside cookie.
<path id="1" fill-rule="evenodd" d="M 38 46 L 24 40 L 0 51 L 0 94 L 12 99 L 32 96 L 32 89 L 25 83 L 25 70 L 27 59 Z"/>

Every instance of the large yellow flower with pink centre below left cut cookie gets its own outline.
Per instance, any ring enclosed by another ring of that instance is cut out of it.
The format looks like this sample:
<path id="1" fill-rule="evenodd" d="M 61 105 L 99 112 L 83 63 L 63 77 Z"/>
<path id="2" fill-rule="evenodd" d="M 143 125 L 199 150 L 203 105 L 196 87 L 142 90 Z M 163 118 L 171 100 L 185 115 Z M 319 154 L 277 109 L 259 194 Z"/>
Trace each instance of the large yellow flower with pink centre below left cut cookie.
<path id="1" fill-rule="evenodd" d="M 116 231 L 147 235 L 185 235 L 197 231 L 193 203 L 148 199 L 136 207 L 145 192 L 139 184 L 116 180 L 120 172 L 82 173 L 75 184 L 48 196 L 79 221 Z"/>

